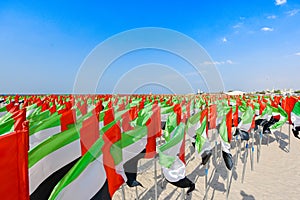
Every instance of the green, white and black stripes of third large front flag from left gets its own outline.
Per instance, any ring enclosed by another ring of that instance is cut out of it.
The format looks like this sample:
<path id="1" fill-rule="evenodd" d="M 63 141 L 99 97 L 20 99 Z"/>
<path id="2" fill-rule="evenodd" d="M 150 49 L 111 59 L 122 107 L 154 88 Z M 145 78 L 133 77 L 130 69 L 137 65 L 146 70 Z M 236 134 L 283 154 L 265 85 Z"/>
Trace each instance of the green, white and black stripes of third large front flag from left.
<path id="1" fill-rule="evenodd" d="M 49 199 L 110 200 L 106 171 L 99 138 L 53 189 Z"/>

